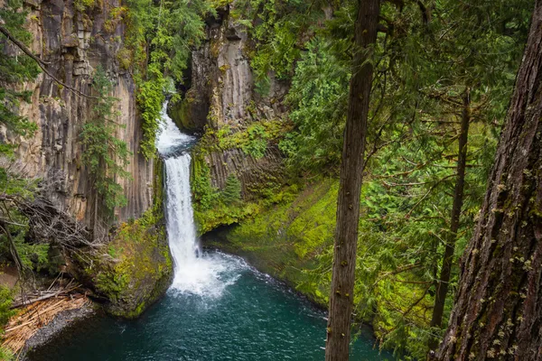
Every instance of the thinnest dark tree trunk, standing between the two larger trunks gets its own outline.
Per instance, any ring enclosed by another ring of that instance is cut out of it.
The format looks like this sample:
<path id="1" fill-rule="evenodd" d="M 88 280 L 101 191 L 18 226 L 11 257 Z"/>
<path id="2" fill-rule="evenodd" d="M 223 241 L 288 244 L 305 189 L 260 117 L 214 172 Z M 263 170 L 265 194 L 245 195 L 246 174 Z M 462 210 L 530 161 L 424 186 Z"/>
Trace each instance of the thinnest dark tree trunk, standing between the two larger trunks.
<path id="1" fill-rule="evenodd" d="M 452 274 L 453 253 L 455 242 L 457 240 L 457 231 L 459 230 L 459 220 L 461 218 L 461 209 L 463 208 L 463 189 L 465 186 L 465 169 L 467 166 L 467 143 L 469 139 L 469 125 L 471 124 L 471 93 L 467 88 L 463 94 L 463 112 L 461 119 L 461 133 L 459 135 L 459 156 L 457 159 L 455 180 L 455 190 L 453 191 L 452 218 L 450 222 L 450 233 L 446 236 L 444 245 L 443 267 L 441 269 L 440 279 L 437 282 L 435 307 L 433 308 L 433 317 L 431 318 L 431 327 L 440 328 L 443 322 L 444 303 L 448 293 L 450 275 Z M 431 348 L 438 346 L 438 341 L 431 341 Z"/>

